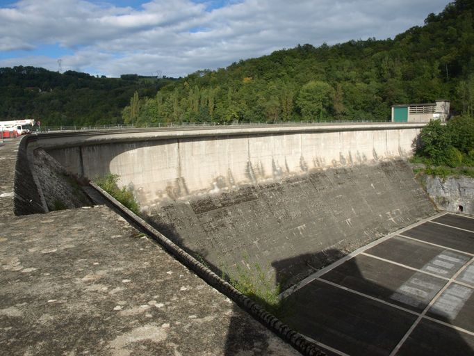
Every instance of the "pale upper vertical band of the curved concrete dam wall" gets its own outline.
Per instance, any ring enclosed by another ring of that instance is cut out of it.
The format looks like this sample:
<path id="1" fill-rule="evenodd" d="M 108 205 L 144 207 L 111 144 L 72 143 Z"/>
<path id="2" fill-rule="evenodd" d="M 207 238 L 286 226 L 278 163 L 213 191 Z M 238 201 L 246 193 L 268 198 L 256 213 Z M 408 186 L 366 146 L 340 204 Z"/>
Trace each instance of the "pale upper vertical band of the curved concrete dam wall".
<path id="1" fill-rule="evenodd" d="M 120 175 L 143 208 L 304 174 L 406 158 L 423 125 L 366 124 L 115 133 L 51 142 L 49 153 L 90 179 Z M 58 145 L 62 146 L 57 148 Z M 56 147 L 55 147 L 56 146 Z"/>

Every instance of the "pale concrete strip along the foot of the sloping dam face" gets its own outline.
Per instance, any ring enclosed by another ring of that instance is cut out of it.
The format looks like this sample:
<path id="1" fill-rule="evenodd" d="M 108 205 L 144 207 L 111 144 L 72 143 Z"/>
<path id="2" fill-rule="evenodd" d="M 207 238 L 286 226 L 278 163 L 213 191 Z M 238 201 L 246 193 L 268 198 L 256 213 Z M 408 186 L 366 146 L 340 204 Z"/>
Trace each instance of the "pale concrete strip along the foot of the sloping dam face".
<path id="1" fill-rule="evenodd" d="M 381 238 L 379 238 L 379 239 L 377 239 L 377 240 L 375 240 L 371 243 L 368 243 L 368 245 L 365 245 L 361 248 L 358 248 L 357 250 L 355 250 L 354 252 L 351 252 L 350 254 L 346 255 L 342 259 L 338 259 L 333 264 L 330 264 L 329 266 L 326 266 L 325 268 L 322 268 L 322 269 L 318 270 L 317 272 L 312 273 L 308 277 L 304 278 L 304 280 L 301 280 L 300 282 L 298 282 L 294 286 L 291 286 L 288 289 L 282 291 L 281 293 L 279 293 L 278 298 L 280 300 L 284 299 L 284 298 L 287 298 L 288 296 L 291 296 L 291 294 L 295 293 L 295 291 L 297 291 L 299 289 L 302 289 L 307 284 L 313 282 L 313 280 L 316 280 L 318 277 L 320 277 L 320 276 L 324 275 L 325 273 L 329 272 L 329 270 L 332 270 L 333 268 L 336 268 L 337 266 L 341 266 L 341 264 L 343 264 L 345 261 L 348 261 L 348 260 L 352 259 L 352 257 L 357 256 L 357 254 L 362 253 L 362 252 L 368 250 L 369 248 L 373 248 L 373 246 L 378 245 L 379 243 L 382 243 L 382 242 L 388 240 L 389 238 L 392 238 L 393 236 L 400 235 L 402 232 L 405 232 L 409 229 L 412 229 L 414 227 L 417 227 L 419 225 L 427 223 L 427 222 L 431 221 L 432 219 L 436 219 L 436 218 L 439 218 L 441 216 L 445 216 L 446 214 L 448 214 L 448 213 L 446 213 L 446 212 L 438 213 L 434 216 L 431 216 L 430 218 L 425 218 L 423 220 L 420 220 L 417 223 L 411 224 L 407 227 L 404 227 L 404 228 L 399 229 L 395 232 L 392 232 L 391 234 L 388 234 L 384 237 L 381 237 Z"/>

